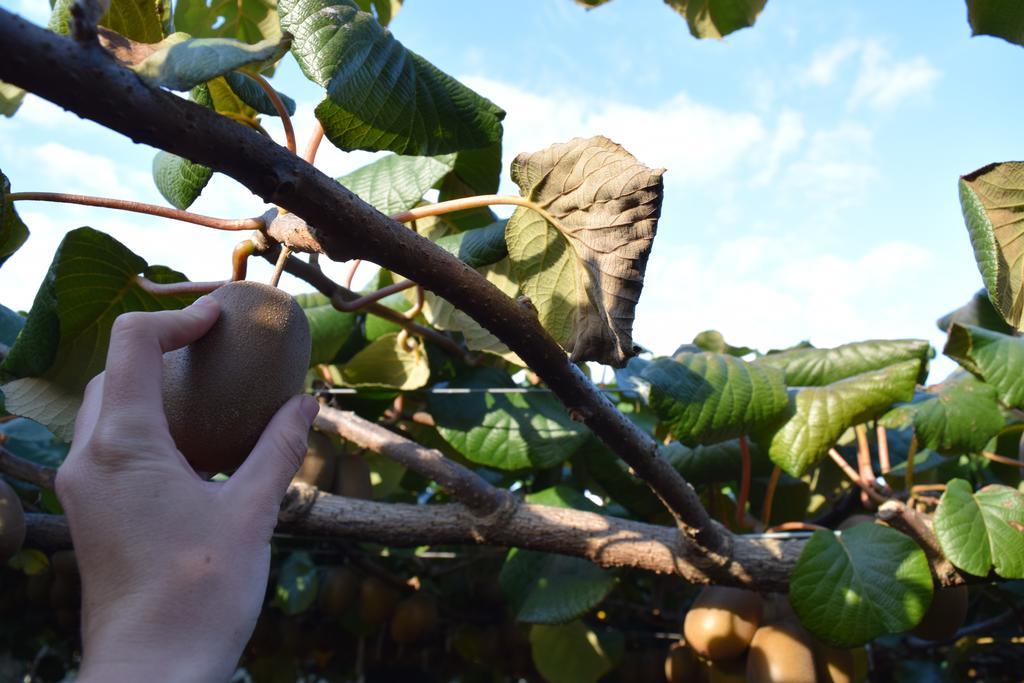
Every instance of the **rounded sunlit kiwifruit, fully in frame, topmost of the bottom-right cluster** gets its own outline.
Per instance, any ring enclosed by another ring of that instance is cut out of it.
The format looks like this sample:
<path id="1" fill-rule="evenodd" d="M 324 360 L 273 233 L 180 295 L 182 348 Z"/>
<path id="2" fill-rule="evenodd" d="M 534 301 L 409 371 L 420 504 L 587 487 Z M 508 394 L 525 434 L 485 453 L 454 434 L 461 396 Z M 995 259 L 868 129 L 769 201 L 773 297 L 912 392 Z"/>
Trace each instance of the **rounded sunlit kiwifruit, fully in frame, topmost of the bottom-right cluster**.
<path id="1" fill-rule="evenodd" d="M 683 637 L 708 659 L 737 657 L 761 625 L 761 596 L 753 591 L 709 586 L 686 612 Z"/>

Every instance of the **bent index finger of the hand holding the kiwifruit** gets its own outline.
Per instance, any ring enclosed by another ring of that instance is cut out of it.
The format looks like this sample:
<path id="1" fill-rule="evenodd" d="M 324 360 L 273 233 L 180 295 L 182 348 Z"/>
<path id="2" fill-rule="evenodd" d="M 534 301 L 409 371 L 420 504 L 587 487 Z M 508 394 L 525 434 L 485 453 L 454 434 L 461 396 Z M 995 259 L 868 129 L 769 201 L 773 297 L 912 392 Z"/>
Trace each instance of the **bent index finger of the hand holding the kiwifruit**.
<path id="1" fill-rule="evenodd" d="M 104 415 L 150 412 L 163 404 L 163 356 L 205 335 L 220 315 L 203 297 L 181 310 L 123 313 L 114 321 L 103 379 Z"/>

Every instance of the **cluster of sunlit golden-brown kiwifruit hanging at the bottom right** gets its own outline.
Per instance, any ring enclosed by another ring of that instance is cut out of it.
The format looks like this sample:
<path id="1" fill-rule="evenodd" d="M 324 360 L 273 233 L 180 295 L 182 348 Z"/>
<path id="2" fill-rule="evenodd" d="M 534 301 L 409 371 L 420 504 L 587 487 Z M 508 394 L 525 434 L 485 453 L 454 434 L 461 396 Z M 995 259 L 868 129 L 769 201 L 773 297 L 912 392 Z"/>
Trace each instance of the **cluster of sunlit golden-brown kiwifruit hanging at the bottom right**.
<path id="1" fill-rule="evenodd" d="M 860 683 L 863 648 L 843 650 L 813 639 L 784 597 L 709 586 L 683 622 L 683 640 L 665 659 L 669 683 Z"/>

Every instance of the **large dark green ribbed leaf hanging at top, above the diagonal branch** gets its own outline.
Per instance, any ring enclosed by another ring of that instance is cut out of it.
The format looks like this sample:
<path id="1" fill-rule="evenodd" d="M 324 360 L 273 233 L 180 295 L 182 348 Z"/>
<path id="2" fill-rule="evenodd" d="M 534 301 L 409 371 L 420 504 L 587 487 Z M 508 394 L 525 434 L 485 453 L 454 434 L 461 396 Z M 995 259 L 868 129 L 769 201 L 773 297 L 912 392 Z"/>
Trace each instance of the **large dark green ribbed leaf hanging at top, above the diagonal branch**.
<path id="1" fill-rule="evenodd" d="M 352 0 L 282 0 L 281 26 L 309 80 L 316 118 L 342 150 L 439 155 L 501 139 L 505 112 L 406 49 Z"/>

